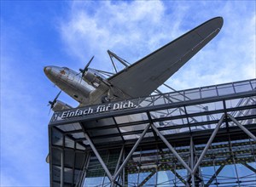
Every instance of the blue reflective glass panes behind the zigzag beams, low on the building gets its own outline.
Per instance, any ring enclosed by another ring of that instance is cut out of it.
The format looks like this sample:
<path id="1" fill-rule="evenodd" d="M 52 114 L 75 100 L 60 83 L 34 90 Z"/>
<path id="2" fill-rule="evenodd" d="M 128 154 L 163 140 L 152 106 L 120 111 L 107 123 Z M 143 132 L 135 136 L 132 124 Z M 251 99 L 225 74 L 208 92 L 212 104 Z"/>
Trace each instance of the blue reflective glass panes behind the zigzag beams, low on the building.
<path id="1" fill-rule="evenodd" d="M 195 158 L 201 155 L 206 144 L 195 145 Z M 153 147 L 152 147 L 153 148 Z M 183 160 L 191 159 L 189 146 L 176 147 Z M 195 184 L 203 186 L 256 186 L 256 143 L 252 139 L 219 141 L 211 144 L 207 155 L 196 173 Z M 106 161 L 110 171 L 114 171 L 119 153 L 108 151 Z M 105 157 L 103 157 L 105 158 Z M 196 159 L 195 159 L 196 160 Z M 113 164 L 111 166 L 111 164 Z M 90 159 L 84 186 L 111 186 L 96 156 Z M 120 178 L 123 186 L 185 186 L 190 184 L 189 173 L 168 149 L 143 150 L 133 153 L 124 169 L 125 178 Z M 125 179 L 122 181 L 122 179 Z"/>

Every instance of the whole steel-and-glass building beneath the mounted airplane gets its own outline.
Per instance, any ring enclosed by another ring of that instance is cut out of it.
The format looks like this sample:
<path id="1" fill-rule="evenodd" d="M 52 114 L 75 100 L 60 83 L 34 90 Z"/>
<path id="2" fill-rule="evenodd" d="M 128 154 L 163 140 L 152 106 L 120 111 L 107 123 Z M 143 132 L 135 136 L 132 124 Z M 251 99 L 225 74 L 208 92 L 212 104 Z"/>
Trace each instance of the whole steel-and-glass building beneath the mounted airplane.
<path id="1" fill-rule="evenodd" d="M 90 116 L 55 112 L 50 184 L 256 186 L 255 88 L 253 79 L 119 101 L 136 107 Z"/>

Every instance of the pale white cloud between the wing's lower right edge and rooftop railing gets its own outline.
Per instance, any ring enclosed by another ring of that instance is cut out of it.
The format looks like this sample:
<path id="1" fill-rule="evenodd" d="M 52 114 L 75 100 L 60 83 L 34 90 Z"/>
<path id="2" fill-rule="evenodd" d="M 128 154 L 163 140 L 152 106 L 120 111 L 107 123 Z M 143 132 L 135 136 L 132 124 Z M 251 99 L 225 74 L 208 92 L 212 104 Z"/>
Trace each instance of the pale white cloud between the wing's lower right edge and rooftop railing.
<path id="1" fill-rule="evenodd" d="M 168 84 L 184 89 L 255 78 L 255 10 L 250 8 L 231 2 L 218 6 L 222 30 Z"/>

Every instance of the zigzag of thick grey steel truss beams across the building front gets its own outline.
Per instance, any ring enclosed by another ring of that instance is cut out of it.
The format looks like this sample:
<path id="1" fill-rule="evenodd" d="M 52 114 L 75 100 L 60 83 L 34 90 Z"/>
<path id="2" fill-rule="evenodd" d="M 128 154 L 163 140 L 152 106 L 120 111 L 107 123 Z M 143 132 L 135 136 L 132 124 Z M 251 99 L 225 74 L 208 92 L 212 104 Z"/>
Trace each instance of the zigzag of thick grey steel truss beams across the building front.
<path id="1" fill-rule="evenodd" d="M 119 184 L 119 181 L 117 180 L 117 178 L 119 177 L 120 173 L 123 171 L 123 169 L 125 168 L 126 164 L 127 164 L 127 161 L 130 160 L 131 158 L 131 155 L 134 153 L 134 151 L 137 149 L 137 146 L 141 143 L 141 141 L 143 140 L 144 138 L 144 135 L 148 132 L 148 128 L 151 127 L 152 130 L 154 130 L 155 133 L 157 133 L 157 135 L 160 137 L 160 139 L 162 139 L 162 141 L 166 144 L 166 146 L 172 151 L 173 155 L 176 156 L 177 160 L 181 162 L 181 164 L 183 165 L 183 167 L 185 167 L 189 173 L 189 180 L 187 181 L 187 185 L 190 186 L 192 184 L 192 186 L 203 186 L 203 184 L 200 184 L 198 183 L 197 185 L 195 185 L 195 174 L 197 173 L 198 174 L 198 168 L 200 167 L 200 164 L 201 164 L 201 161 L 202 159 L 204 158 L 204 156 L 206 155 L 207 153 L 207 150 L 209 149 L 209 147 L 211 146 L 212 144 L 212 140 L 215 138 L 216 134 L 218 133 L 218 129 L 219 127 L 223 124 L 224 122 L 224 119 L 227 120 L 227 118 L 230 118 L 230 120 L 232 122 L 235 122 L 236 125 L 238 127 L 241 128 L 241 130 L 244 132 L 244 133 L 247 133 L 247 135 L 249 137 L 251 137 L 254 141 L 256 141 L 256 137 L 253 135 L 253 133 L 251 133 L 250 131 L 247 130 L 246 127 L 243 127 L 241 125 L 240 122 L 237 122 L 236 119 L 233 117 L 233 116 L 230 116 L 230 114 L 223 114 L 223 116 L 221 117 L 221 119 L 219 120 L 218 122 L 218 126 L 214 129 L 214 131 L 212 132 L 212 135 L 210 137 L 210 139 L 208 140 L 204 150 L 202 151 L 201 153 L 201 156 L 199 157 L 199 159 L 196 161 L 195 160 L 195 157 L 194 157 L 194 150 L 195 150 L 195 147 L 194 147 L 194 143 L 193 143 L 193 138 L 191 137 L 191 143 L 190 143 L 190 153 L 191 153 L 191 156 L 190 156 L 190 165 L 188 165 L 181 156 L 179 156 L 179 154 L 177 153 L 177 151 L 172 147 L 172 144 L 170 144 L 168 142 L 168 140 L 165 138 L 165 136 L 160 133 L 160 131 L 158 130 L 157 127 L 154 126 L 153 123 L 150 123 L 148 124 L 148 126 L 144 129 L 143 133 L 141 134 L 140 138 L 137 139 L 137 142 L 136 144 L 133 145 L 133 147 L 131 148 L 131 151 L 129 152 L 129 154 L 125 157 L 125 160 L 123 161 L 122 165 L 119 166 L 119 164 L 117 165 L 116 168 L 119 168 L 117 171 L 115 171 L 113 173 L 113 175 L 111 175 L 111 173 L 109 172 L 108 170 L 108 167 L 106 166 L 106 164 L 104 163 L 104 161 L 102 161 L 102 157 L 99 155 L 98 151 L 96 150 L 96 147 L 95 145 L 92 143 L 92 141 L 90 140 L 90 137 L 87 133 L 84 133 L 86 139 L 89 141 L 89 144 L 90 144 L 90 147 L 91 149 L 93 150 L 94 154 L 96 155 L 97 159 L 100 161 L 104 171 L 107 173 L 108 175 L 108 178 L 109 180 L 111 181 L 112 185 L 111 186 L 115 186 L 114 184 L 116 185 L 119 185 L 119 186 L 122 186 L 122 184 Z M 119 158 L 121 158 L 122 156 L 122 153 L 123 153 L 123 149 L 121 150 L 120 152 L 120 156 Z M 118 162 L 119 163 L 119 162 Z M 195 165 L 195 166 L 194 166 Z M 219 173 L 219 171 L 217 172 Z M 197 176 L 197 178 L 200 178 L 200 176 Z M 149 178 L 148 178 L 149 179 Z M 201 179 L 201 178 L 200 178 Z M 202 181 L 202 180 L 201 180 Z M 212 179 L 209 180 L 209 182 L 212 181 Z M 240 184 L 238 184 L 240 186 Z M 138 186 L 142 186 L 142 184 L 139 184 Z"/>

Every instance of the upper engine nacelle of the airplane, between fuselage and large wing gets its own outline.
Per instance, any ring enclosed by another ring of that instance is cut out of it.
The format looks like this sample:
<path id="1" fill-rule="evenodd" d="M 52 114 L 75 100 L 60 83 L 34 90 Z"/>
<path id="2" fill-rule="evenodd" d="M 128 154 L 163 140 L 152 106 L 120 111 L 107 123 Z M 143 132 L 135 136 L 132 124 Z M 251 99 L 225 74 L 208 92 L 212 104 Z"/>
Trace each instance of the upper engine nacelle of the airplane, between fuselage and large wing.
<path id="1" fill-rule="evenodd" d="M 88 70 L 84 73 L 83 79 L 85 82 L 89 83 L 94 88 L 97 88 L 102 82 L 107 83 L 106 77 L 90 68 L 88 68 Z"/>

